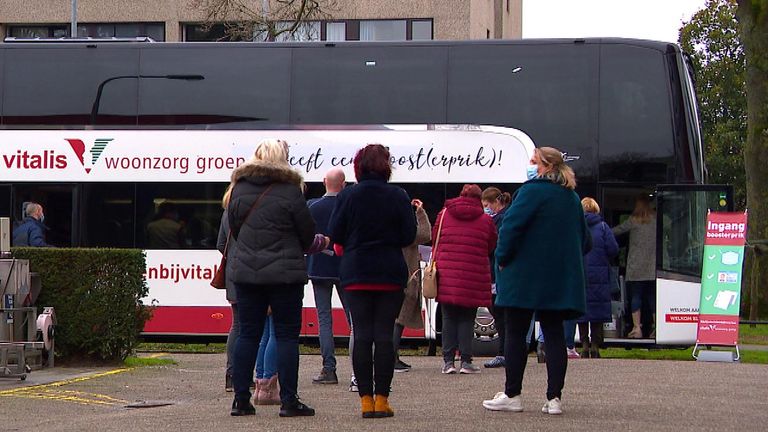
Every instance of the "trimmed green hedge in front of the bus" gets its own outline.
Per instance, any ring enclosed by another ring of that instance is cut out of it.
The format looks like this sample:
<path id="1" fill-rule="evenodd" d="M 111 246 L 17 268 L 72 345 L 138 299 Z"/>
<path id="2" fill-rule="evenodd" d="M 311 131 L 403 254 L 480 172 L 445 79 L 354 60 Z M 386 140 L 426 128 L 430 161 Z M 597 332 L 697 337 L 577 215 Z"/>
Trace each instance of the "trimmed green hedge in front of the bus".
<path id="1" fill-rule="evenodd" d="M 57 359 L 117 361 L 136 346 L 151 316 L 146 259 L 137 249 L 13 248 L 40 275 L 36 306 L 56 311 Z"/>

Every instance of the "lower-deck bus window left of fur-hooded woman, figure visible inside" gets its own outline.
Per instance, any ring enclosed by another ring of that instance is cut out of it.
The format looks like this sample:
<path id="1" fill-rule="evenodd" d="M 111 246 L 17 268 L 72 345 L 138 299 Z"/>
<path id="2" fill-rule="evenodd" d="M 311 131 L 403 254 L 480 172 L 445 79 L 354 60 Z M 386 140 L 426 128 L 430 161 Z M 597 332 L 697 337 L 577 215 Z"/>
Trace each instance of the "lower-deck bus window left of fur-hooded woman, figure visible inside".
<path id="1" fill-rule="evenodd" d="M 225 188 L 226 183 L 138 183 L 136 246 L 214 249 Z"/>

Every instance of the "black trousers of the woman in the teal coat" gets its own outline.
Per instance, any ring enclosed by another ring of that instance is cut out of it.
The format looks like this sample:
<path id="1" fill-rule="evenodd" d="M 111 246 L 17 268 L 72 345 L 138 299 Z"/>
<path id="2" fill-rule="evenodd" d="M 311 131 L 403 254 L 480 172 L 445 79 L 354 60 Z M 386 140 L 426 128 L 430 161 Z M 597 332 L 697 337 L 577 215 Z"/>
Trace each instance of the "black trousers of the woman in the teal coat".
<path id="1" fill-rule="evenodd" d="M 523 389 L 523 376 L 528 363 L 528 344 L 525 339 L 534 311 L 518 308 L 504 309 L 507 328 L 507 340 L 504 345 L 507 382 L 504 393 L 509 397 L 515 397 Z M 563 316 L 559 311 L 537 311 L 536 316 L 546 337 L 547 400 L 551 400 L 562 396 L 565 373 L 568 368 Z"/>

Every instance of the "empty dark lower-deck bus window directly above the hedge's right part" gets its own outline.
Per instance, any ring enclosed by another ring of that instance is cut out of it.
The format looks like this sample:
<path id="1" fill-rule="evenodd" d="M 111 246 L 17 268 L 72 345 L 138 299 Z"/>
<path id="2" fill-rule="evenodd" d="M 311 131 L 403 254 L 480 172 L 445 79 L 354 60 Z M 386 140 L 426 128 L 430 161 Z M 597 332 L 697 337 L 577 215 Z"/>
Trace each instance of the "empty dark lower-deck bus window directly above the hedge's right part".
<path id="1" fill-rule="evenodd" d="M 134 183 L 83 184 L 82 246 L 134 247 L 135 193 Z"/>

